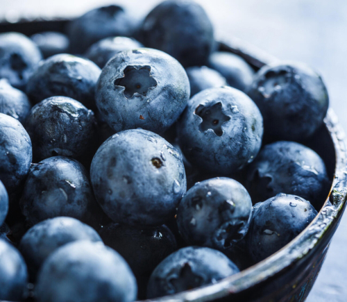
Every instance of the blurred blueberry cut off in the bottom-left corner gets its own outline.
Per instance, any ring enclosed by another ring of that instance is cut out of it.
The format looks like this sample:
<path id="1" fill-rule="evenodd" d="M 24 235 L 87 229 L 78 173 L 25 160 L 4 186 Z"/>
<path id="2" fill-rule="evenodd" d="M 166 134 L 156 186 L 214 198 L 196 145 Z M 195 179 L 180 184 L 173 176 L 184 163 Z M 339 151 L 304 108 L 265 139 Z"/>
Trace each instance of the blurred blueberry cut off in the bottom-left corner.
<path id="1" fill-rule="evenodd" d="M 0 299 L 22 301 L 26 294 L 28 273 L 22 255 L 0 238 Z"/>

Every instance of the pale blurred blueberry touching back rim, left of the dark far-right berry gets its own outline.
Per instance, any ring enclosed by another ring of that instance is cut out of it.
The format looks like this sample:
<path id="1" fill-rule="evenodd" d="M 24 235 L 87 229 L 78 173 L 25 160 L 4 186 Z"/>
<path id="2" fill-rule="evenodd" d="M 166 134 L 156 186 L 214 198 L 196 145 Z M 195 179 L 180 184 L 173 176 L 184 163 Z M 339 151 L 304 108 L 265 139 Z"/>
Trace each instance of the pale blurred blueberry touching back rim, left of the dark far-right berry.
<path id="1" fill-rule="evenodd" d="M 217 70 L 231 87 L 246 90 L 253 81 L 254 71 L 247 62 L 234 53 L 217 51 L 211 54 L 209 67 Z"/>

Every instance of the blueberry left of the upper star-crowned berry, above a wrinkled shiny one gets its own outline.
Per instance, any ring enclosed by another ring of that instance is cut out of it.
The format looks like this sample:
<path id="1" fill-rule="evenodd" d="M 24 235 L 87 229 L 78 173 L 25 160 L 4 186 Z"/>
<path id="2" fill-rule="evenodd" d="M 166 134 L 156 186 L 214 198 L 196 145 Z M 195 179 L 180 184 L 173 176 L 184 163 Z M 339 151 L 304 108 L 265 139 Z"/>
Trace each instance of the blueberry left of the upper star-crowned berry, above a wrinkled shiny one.
<path id="1" fill-rule="evenodd" d="M 95 108 L 95 85 L 101 69 L 94 62 L 60 53 L 42 61 L 28 80 L 26 92 L 33 103 L 54 96 L 71 97 Z"/>

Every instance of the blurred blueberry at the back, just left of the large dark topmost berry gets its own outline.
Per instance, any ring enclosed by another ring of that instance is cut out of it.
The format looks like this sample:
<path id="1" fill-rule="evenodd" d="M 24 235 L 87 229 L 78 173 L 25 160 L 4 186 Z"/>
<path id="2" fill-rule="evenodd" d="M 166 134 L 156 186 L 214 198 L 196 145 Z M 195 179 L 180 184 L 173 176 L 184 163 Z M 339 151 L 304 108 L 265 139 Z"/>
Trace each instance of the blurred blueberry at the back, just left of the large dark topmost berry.
<path id="1" fill-rule="evenodd" d="M 90 45 L 104 37 L 130 37 L 137 22 L 120 6 L 103 6 L 71 21 L 68 27 L 72 53 L 84 53 Z"/>

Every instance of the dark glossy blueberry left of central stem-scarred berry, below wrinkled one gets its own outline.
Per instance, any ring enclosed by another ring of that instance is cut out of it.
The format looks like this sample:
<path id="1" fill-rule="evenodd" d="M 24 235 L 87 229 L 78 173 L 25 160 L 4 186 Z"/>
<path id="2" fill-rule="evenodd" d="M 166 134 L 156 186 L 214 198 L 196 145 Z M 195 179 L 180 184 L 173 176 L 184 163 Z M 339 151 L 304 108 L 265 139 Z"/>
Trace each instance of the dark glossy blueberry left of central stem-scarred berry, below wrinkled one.
<path id="1" fill-rule="evenodd" d="M 78 161 L 62 156 L 33 166 L 20 206 L 29 225 L 58 216 L 74 217 L 92 226 L 103 219 L 87 171 Z"/>

